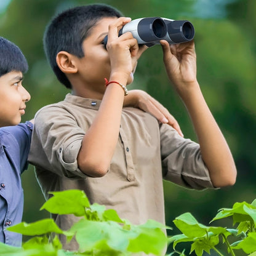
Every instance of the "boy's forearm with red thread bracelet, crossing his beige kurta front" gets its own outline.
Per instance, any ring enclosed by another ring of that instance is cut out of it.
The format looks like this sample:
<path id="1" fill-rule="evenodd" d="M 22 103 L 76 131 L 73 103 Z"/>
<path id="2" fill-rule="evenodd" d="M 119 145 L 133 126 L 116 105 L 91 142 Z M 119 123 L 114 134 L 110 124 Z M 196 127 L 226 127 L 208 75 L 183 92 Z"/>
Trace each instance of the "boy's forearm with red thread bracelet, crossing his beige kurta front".
<path id="1" fill-rule="evenodd" d="M 124 90 L 110 84 L 78 154 L 79 169 L 89 176 L 102 177 L 108 171 L 118 142 L 123 101 Z"/>

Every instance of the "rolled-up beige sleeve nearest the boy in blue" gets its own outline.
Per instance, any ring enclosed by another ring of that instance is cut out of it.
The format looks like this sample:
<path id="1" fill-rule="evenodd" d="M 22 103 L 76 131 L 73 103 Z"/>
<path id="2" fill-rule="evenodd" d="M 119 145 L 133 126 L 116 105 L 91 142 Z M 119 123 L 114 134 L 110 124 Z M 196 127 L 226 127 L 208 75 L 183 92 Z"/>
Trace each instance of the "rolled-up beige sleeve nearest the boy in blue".
<path id="1" fill-rule="evenodd" d="M 84 134 L 68 111 L 54 105 L 42 108 L 35 116 L 28 160 L 60 176 L 87 177 L 77 162 Z"/>

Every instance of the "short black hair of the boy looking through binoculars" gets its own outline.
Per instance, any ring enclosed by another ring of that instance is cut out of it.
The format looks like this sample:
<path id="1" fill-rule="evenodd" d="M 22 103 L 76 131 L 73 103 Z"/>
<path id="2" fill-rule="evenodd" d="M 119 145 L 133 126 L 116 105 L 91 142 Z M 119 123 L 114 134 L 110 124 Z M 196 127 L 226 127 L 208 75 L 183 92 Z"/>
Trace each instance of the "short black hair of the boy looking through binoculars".
<path id="1" fill-rule="evenodd" d="M 70 81 L 56 63 L 58 52 L 64 50 L 84 57 L 82 42 L 89 36 L 90 28 L 102 18 L 121 16 L 119 10 L 106 4 L 89 4 L 64 10 L 50 21 L 44 33 L 44 51 L 58 81 L 71 89 Z"/>

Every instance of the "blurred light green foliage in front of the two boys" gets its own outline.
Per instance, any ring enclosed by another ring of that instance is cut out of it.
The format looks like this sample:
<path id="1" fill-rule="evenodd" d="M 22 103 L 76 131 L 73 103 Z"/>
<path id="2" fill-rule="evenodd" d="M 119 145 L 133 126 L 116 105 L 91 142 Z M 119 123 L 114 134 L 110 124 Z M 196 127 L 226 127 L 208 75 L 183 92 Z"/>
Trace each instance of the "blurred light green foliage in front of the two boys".
<path id="1" fill-rule="evenodd" d="M 127 220 L 121 220 L 115 210 L 106 210 L 99 204 L 91 205 L 81 190 L 52 194 L 41 209 L 52 214 L 74 214 L 81 217 L 80 220 L 68 231 L 61 230 L 51 218 L 12 226 L 9 231 L 34 237 L 23 243 L 22 248 L 0 243 L 2 256 L 122 256 L 137 252 L 162 255 L 167 246 L 164 233 L 167 227 L 161 223 L 148 220 L 143 225 L 132 225 Z M 75 237 L 79 250 L 64 250 L 57 234 L 66 236 L 67 242 Z"/>

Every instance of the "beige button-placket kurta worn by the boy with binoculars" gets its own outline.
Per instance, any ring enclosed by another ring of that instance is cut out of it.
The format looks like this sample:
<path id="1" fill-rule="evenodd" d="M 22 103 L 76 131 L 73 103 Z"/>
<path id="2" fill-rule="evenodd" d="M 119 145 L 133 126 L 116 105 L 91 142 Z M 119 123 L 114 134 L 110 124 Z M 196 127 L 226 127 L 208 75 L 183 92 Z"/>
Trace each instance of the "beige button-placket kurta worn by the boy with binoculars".
<path id="1" fill-rule="evenodd" d="M 46 198 L 49 191 L 84 190 L 90 203 L 115 209 L 134 224 L 148 219 L 165 223 L 162 178 L 186 188 L 213 187 L 199 145 L 137 108 L 122 111 L 108 173 L 88 177 L 78 169 L 76 158 L 99 106 L 100 101 L 68 94 L 63 102 L 45 106 L 36 114 L 29 161 L 36 166 Z M 54 218 L 63 230 L 77 220 L 73 215 Z M 66 249 L 78 248 L 71 242 Z"/>

